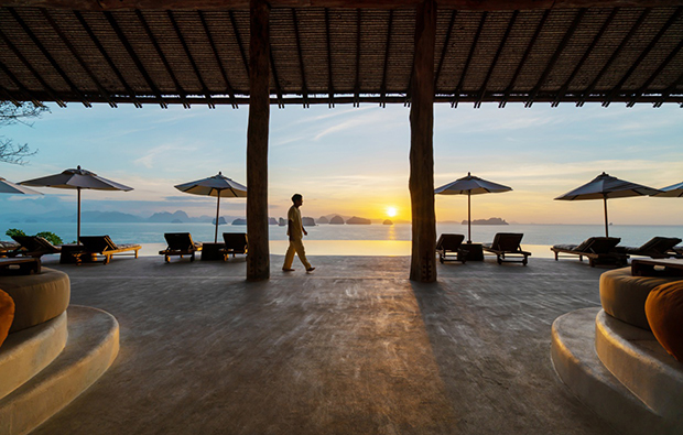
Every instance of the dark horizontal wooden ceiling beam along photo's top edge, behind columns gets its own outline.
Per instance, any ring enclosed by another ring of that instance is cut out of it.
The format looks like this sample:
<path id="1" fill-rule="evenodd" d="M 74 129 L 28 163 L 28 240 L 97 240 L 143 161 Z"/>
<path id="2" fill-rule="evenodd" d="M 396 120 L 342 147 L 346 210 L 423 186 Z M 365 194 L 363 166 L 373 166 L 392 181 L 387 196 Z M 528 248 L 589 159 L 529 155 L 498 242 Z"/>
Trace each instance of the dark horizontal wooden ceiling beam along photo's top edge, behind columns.
<path id="1" fill-rule="evenodd" d="M 272 8 L 412 9 L 423 0 L 270 0 Z M 441 0 L 442 10 L 513 11 L 576 8 L 658 8 L 683 0 Z M 0 0 L 0 7 L 35 7 L 80 11 L 116 10 L 248 10 L 249 0 Z"/>

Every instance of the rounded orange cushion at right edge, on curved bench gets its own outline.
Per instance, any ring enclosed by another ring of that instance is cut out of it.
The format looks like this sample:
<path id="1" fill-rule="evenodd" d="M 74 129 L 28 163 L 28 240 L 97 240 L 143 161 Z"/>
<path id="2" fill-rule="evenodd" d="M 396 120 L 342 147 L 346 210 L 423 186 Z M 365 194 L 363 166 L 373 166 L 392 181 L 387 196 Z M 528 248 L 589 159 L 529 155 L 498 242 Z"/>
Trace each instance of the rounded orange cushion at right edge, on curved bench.
<path id="1" fill-rule="evenodd" d="M 683 362 L 683 281 L 652 290 L 646 301 L 646 316 L 660 345 Z"/>

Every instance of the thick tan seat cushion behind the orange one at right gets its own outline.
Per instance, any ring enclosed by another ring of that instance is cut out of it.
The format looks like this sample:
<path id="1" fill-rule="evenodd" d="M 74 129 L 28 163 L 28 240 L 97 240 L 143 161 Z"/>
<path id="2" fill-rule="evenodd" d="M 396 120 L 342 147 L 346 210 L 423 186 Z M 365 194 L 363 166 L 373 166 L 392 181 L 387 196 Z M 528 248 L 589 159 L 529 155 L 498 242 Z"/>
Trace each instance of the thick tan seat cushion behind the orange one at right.
<path id="1" fill-rule="evenodd" d="M 607 314 L 627 324 L 650 330 L 646 301 L 650 292 L 681 278 L 632 276 L 631 268 L 616 269 L 600 275 L 600 303 Z"/>

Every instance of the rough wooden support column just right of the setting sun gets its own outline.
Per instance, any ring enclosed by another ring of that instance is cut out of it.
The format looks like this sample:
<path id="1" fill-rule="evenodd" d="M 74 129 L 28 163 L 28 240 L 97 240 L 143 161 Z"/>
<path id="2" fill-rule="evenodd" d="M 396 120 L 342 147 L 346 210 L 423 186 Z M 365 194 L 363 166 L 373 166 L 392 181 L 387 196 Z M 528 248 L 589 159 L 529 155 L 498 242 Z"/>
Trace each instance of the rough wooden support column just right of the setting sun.
<path id="1" fill-rule="evenodd" d="M 434 41 L 436 2 L 425 0 L 415 17 L 415 55 L 410 108 L 410 202 L 412 258 L 410 279 L 436 281 L 434 215 Z"/>

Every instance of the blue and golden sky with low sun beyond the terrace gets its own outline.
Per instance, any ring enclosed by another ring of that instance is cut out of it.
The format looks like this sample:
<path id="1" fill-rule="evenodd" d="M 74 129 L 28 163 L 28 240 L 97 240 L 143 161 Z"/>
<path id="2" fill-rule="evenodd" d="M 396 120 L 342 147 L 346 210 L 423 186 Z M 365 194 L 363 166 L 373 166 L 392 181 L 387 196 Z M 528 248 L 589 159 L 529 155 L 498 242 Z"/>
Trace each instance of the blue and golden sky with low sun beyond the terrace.
<path id="1" fill-rule="evenodd" d="M 13 182 L 82 167 L 127 184 L 132 192 L 85 192 L 84 210 L 118 210 L 143 217 L 183 209 L 213 215 L 215 198 L 173 186 L 224 175 L 246 184 L 248 106 L 209 110 L 194 106 L 111 109 L 77 104 L 0 134 L 39 153 L 25 166 L 0 163 Z M 285 216 L 293 193 L 304 195 L 304 216 L 327 214 L 410 219 L 408 191 L 410 109 L 312 106 L 271 107 L 270 215 Z M 683 181 L 683 109 L 614 104 L 532 108 L 484 105 L 435 107 L 435 187 L 471 172 L 513 188 L 473 196 L 473 219 L 501 217 L 519 224 L 601 224 L 600 202 L 554 197 L 603 171 L 651 187 Z M 0 215 L 12 210 L 74 210 L 75 192 L 39 188 L 44 196 L 1 195 Z M 245 199 L 221 200 L 221 215 L 243 216 Z M 615 225 L 682 225 L 683 200 L 625 198 L 609 202 Z M 436 196 L 437 220 L 467 217 L 466 196 Z"/>

